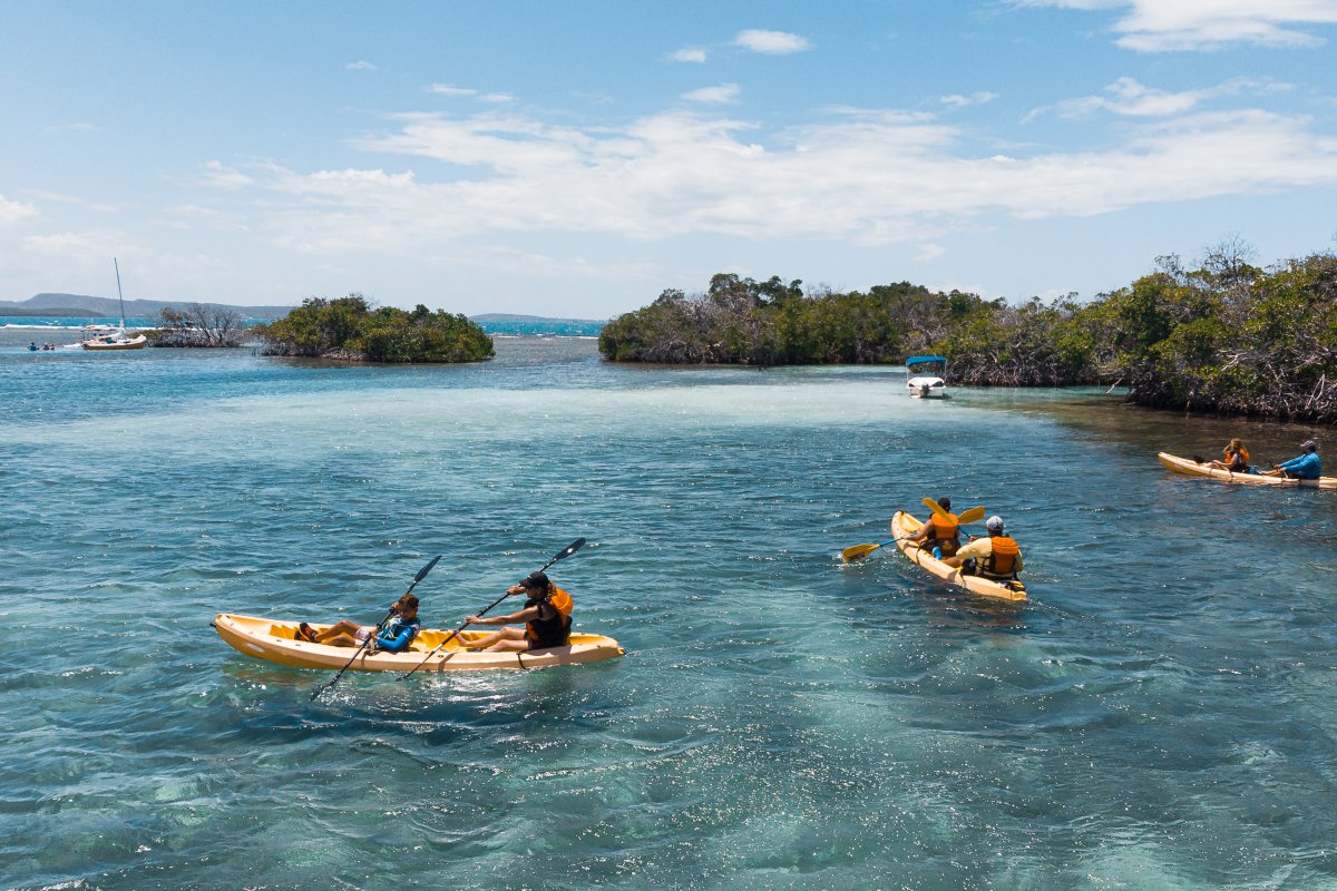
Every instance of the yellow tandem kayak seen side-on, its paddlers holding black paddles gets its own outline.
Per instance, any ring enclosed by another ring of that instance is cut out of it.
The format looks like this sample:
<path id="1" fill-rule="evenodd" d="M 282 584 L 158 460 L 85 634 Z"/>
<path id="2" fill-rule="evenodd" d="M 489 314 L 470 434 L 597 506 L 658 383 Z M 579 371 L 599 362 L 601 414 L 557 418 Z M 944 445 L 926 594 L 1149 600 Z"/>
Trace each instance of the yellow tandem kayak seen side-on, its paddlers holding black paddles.
<path id="1" fill-rule="evenodd" d="M 338 671 L 348 665 L 356 652 L 352 647 L 332 647 L 313 644 L 297 637 L 295 621 L 275 621 L 254 616 L 218 613 L 214 628 L 233 649 L 254 659 L 263 659 L 279 665 L 294 668 L 329 668 Z M 321 631 L 329 625 L 312 625 Z M 437 647 L 448 631 L 424 628 L 412 647 L 402 653 L 380 651 L 362 653 L 349 665 L 358 672 L 408 672 Z M 571 635 L 566 647 L 533 649 L 524 653 L 471 653 L 467 651 L 471 640 L 487 632 L 467 631 L 443 647 L 418 672 L 469 672 L 489 668 L 551 668 L 554 665 L 576 665 L 616 659 L 626 651 L 611 637 L 603 635 Z M 460 639 L 464 639 L 461 645 Z"/>

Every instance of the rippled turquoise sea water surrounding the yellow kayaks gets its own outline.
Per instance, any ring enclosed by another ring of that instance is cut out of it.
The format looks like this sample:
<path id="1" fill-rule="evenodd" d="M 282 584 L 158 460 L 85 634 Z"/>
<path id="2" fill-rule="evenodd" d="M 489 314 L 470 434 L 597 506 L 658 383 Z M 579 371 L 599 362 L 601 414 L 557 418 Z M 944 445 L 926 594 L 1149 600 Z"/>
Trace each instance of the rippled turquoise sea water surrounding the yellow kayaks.
<path id="1" fill-rule="evenodd" d="M 0 884 L 1337 888 L 1337 493 L 1154 457 L 1310 431 L 902 386 L 0 347 Z M 840 564 L 939 494 L 1029 604 Z M 578 536 L 620 660 L 313 703 L 209 627 L 372 622 L 436 554 L 455 627 Z"/>

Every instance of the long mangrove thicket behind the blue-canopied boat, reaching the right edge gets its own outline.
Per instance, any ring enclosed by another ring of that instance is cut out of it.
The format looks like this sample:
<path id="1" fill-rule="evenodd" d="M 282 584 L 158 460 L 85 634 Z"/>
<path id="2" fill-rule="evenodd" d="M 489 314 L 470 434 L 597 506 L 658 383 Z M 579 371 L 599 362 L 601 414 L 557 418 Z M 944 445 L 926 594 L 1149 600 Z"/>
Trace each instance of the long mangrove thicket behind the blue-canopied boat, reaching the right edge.
<path id="1" fill-rule="evenodd" d="M 1337 256 L 1261 270 L 1238 246 L 1202 269 L 1157 271 L 1088 303 L 1019 306 L 901 282 L 866 294 L 805 294 L 715 275 L 689 297 L 664 291 L 611 321 L 602 354 L 618 362 L 818 365 L 948 358 L 951 381 L 979 386 L 1123 385 L 1132 402 L 1186 411 L 1337 423 Z"/>

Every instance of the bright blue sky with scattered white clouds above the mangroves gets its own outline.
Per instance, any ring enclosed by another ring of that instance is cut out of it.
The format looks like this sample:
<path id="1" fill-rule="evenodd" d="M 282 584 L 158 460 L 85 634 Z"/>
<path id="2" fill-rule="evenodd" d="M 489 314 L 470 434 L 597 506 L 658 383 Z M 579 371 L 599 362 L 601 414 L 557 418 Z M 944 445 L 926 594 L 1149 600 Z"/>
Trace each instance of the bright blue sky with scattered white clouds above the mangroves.
<path id="1" fill-rule="evenodd" d="M 612 318 L 1337 248 L 1337 0 L 0 0 L 0 299 Z"/>

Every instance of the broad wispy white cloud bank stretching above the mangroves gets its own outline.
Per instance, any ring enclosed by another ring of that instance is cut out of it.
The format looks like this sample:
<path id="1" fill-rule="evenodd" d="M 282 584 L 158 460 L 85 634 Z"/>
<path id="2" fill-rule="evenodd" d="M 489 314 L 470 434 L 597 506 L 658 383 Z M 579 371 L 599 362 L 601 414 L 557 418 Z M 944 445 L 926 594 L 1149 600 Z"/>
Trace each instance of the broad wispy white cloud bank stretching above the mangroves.
<path id="1" fill-rule="evenodd" d="M 356 148 L 416 170 L 257 174 L 265 230 L 290 248 L 421 255 L 484 232 L 599 232 L 634 239 L 919 244 L 981 220 L 1086 216 L 1139 204 L 1337 186 L 1337 139 L 1302 116 L 1198 114 L 1132 131 L 1102 151 L 983 156 L 976 138 L 925 115 L 842 110 L 763 134 L 663 112 L 620 130 L 496 112 L 405 115 Z M 433 179 L 432 162 L 471 168 Z"/>

